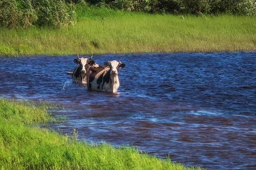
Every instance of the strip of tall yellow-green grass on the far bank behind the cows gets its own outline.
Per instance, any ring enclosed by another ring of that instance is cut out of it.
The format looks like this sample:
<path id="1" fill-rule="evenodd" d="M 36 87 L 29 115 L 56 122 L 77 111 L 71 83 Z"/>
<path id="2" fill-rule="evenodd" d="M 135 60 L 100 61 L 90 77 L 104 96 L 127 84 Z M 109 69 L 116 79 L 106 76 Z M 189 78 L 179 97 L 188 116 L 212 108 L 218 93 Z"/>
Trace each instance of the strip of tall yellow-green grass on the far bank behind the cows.
<path id="1" fill-rule="evenodd" d="M 1 28 L 0 55 L 122 54 L 256 50 L 247 16 L 177 16 L 77 9 L 68 28 Z"/>

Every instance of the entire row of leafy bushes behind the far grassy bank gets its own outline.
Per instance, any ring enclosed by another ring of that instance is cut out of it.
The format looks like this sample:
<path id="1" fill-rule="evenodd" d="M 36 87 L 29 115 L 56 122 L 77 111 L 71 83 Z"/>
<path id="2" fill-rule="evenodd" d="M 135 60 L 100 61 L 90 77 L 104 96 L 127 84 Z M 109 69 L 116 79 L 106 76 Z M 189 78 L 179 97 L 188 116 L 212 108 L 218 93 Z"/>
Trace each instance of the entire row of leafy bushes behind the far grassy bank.
<path id="1" fill-rule="evenodd" d="M 74 25 L 75 3 L 79 8 L 89 4 L 124 11 L 177 15 L 256 15 L 255 0 L 0 0 L 0 26 L 61 28 Z"/>

